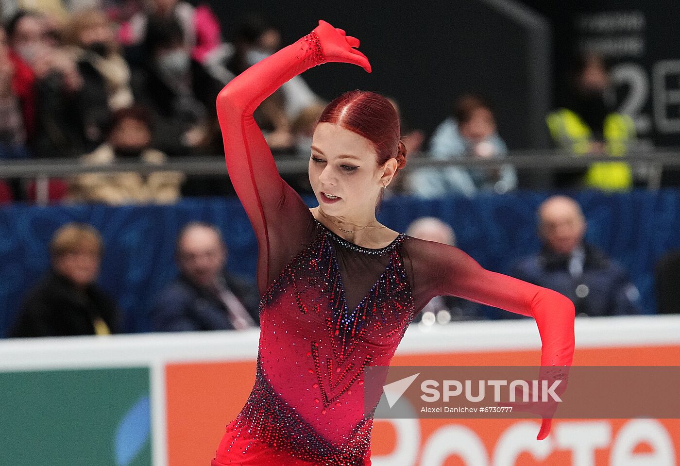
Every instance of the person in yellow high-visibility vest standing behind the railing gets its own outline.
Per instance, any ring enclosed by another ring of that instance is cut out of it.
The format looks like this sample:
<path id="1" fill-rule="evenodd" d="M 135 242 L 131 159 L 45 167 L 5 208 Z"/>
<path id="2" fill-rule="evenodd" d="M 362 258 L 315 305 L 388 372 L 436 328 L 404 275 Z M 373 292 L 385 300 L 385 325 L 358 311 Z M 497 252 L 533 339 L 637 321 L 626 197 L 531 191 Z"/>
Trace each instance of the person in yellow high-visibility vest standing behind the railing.
<path id="1" fill-rule="evenodd" d="M 635 128 L 628 115 L 616 113 L 607 105 L 609 75 L 602 58 L 581 58 L 573 84 L 571 102 L 546 118 L 554 141 L 577 156 L 626 154 L 635 139 Z M 628 190 L 632 182 L 626 162 L 593 162 L 582 179 L 585 186 L 608 191 Z"/>

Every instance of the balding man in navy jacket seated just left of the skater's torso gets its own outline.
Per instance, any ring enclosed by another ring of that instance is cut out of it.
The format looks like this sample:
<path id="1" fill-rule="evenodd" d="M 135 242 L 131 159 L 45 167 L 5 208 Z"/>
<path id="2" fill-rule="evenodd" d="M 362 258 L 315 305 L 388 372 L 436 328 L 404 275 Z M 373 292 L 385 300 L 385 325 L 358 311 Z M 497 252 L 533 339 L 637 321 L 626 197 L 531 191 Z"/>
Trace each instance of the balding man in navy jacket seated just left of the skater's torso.
<path id="1" fill-rule="evenodd" d="M 224 272 L 226 245 L 220 231 L 189 223 L 177 239 L 177 276 L 152 310 L 154 331 L 247 329 L 259 324 L 252 285 Z"/>

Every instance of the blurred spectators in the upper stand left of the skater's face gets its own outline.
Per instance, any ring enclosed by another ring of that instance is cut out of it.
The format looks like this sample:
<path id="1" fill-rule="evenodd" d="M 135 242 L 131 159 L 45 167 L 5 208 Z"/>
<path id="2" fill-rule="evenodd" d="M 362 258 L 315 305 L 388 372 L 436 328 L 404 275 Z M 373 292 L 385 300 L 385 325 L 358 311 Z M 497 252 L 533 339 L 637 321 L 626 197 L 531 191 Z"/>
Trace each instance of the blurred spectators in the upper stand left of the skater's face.
<path id="1" fill-rule="evenodd" d="M 220 154 L 218 92 L 281 45 L 279 32 L 257 16 L 243 18 L 226 43 L 210 8 L 184 1 L 71 12 L 37 4 L 17 10 L 0 28 L 3 160 L 160 164 L 168 157 Z M 296 78 L 256 117 L 273 149 L 292 150 L 307 140 L 322 107 Z M 182 187 L 220 194 L 201 180 L 186 183 L 180 173 L 97 174 L 52 179 L 49 192 L 52 201 L 109 204 L 169 203 Z M 12 181 L 1 192 L 4 200 L 32 200 L 35 185 Z"/>

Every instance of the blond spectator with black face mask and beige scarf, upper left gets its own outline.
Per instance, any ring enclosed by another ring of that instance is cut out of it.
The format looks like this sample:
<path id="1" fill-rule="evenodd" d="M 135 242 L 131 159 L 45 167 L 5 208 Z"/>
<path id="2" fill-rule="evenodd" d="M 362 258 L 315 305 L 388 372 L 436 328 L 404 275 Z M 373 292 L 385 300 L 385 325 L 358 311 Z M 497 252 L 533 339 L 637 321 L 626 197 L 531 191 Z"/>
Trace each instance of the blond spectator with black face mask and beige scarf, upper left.
<path id="1" fill-rule="evenodd" d="M 85 134 L 90 141 L 101 143 L 112 111 L 133 103 L 130 69 L 118 51 L 105 12 L 96 9 L 75 12 L 66 31 L 66 41 L 83 80 Z"/>

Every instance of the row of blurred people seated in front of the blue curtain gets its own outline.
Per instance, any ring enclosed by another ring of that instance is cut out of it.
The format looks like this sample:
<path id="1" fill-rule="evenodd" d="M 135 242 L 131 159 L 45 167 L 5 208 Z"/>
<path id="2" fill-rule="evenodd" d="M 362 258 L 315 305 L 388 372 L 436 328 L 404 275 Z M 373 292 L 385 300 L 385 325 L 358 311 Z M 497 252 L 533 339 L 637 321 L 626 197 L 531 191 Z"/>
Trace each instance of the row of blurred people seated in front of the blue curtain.
<path id="1" fill-rule="evenodd" d="M 640 293 L 615 259 L 585 238 L 587 222 L 579 204 L 567 196 L 547 198 L 537 211 L 541 248 L 520 259 L 511 276 L 554 289 L 575 304 L 577 317 L 641 313 Z M 415 238 L 456 245 L 451 226 L 435 217 L 415 219 L 407 229 Z M 83 223 L 59 228 L 50 243 L 50 268 L 24 298 L 7 336 L 108 335 L 122 331 L 116 299 L 97 285 L 103 257 L 101 236 Z M 154 297 L 152 331 L 242 330 L 259 325 L 254 283 L 226 272 L 228 250 L 215 226 L 188 223 L 177 236 L 179 273 Z M 656 266 L 660 314 L 678 313 L 680 249 L 669 251 Z M 498 314 L 500 312 L 500 314 Z M 424 329 L 455 321 L 522 319 L 503 310 L 454 296 L 437 296 L 411 325 Z"/>

